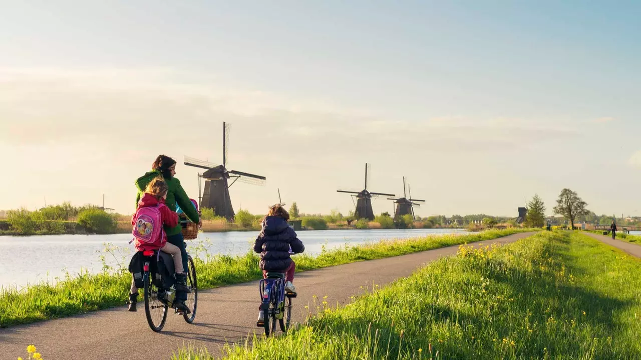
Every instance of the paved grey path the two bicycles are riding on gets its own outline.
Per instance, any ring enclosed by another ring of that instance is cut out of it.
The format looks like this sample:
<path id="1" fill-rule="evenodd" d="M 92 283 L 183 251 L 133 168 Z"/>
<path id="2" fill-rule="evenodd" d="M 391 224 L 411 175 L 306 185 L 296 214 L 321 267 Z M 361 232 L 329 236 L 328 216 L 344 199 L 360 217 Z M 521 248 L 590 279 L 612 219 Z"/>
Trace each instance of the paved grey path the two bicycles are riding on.
<path id="1" fill-rule="evenodd" d="M 476 245 L 511 243 L 532 234 L 513 234 Z M 383 286 L 407 277 L 417 267 L 456 254 L 456 250 L 458 245 L 296 274 L 298 297 L 294 299 L 292 323 L 303 322 L 315 309 L 314 296 L 317 304 L 327 296 L 329 306 L 344 305 L 352 295 L 371 288 L 372 283 Z M 24 358 L 29 344 L 36 345 L 47 360 L 140 359 L 143 354 L 147 359 L 169 359 L 182 345 L 205 346 L 217 355 L 227 342 L 244 341 L 254 331 L 262 333 L 255 326 L 259 302 L 258 281 L 252 281 L 199 291 L 196 321 L 190 325 L 170 309 L 160 333 L 149 329 L 142 302 L 138 302 L 137 313 L 121 306 L 0 329 L 0 359 Z M 304 308 L 306 305 L 309 309 Z"/>

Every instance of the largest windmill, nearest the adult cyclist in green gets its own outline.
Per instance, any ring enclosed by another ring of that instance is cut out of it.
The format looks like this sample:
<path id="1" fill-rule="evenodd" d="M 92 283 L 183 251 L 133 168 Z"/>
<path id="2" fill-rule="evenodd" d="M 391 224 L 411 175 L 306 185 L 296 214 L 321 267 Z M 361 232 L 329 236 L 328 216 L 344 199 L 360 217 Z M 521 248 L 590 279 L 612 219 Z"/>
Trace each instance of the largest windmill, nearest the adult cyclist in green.
<path id="1" fill-rule="evenodd" d="M 197 160 L 185 156 L 185 165 L 190 167 L 204 168 L 203 174 L 198 174 L 198 195 L 201 208 L 213 208 L 215 215 L 226 217 L 228 220 L 234 218 L 234 209 L 229 199 L 229 188 L 240 181 L 241 183 L 265 186 L 264 176 L 249 174 L 237 170 L 227 170 L 229 163 L 229 131 L 231 126 L 226 122 L 222 123 L 222 165 L 216 165 L 209 161 Z M 205 180 L 203 196 L 200 197 L 201 179 Z M 233 179 L 231 184 L 228 179 Z"/>

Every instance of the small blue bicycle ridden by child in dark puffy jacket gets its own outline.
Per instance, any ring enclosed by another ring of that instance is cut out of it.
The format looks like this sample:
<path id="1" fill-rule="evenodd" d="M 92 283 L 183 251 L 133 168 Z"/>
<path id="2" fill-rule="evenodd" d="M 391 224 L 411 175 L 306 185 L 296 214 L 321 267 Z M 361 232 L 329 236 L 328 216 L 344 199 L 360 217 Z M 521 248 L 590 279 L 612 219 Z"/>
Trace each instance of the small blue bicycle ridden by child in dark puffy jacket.
<path id="1" fill-rule="evenodd" d="M 285 291 L 285 274 L 268 272 L 267 279 L 262 279 L 258 286 L 262 299 L 260 310 L 263 311 L 265 336 L 269 337 L 276 332 L 276 320 L 281 332 L 287 332 L 292 321 L 292 299 L 296 297 L 296 293 Z"/>

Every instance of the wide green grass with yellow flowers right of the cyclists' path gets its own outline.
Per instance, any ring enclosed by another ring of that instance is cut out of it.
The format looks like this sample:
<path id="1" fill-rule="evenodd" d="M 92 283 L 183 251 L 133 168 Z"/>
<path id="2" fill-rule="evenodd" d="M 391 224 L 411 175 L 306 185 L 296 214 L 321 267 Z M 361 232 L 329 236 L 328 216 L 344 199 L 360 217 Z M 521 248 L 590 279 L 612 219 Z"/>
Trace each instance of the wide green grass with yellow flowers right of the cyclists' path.
<path id="1" fill-rule="evenodd" d="M 226 359 L 641 359 L 641 262 L 539 233 L 445 258 Z M 218 356 L 217 354 L 216 356 Z M 206 350 L 174 359 L 203 360 Z"/>

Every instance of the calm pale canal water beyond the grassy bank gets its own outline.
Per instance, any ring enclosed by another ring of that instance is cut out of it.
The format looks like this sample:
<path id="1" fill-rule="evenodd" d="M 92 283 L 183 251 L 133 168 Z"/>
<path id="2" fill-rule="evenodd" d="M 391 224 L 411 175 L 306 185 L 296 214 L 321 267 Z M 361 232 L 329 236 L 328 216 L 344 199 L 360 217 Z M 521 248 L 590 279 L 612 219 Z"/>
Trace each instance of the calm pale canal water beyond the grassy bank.
<path id="1" fill-rule="evenodd" d="M 322 247 L 335 249 L 345 244 L 355 245 L 387 238 L 412 238 L 428 234 L 465 233 L 460 229 L 405 229 L 405 230 L 322 230 L 299 231 L 307 254 L 319 254 Z M 228 233 L 201 233 L 200 240 L 210 240 L 210 254 L 239 255 L 253 248 L 258 232 L 230 231 Z M 17 286 L 40 281 L 56 282 L 65 272 L 78 274 L 82 269 L 96 273 L 103 269 L 101 255 L 109 266 L 129 264 L 133 245 L 131 234 L 110 235 L 44 235 L 0 236 L 0 286 Z M 104 243 L 113 245 L 113 256 L 106 252 Z M 124 258 L 124 259 L 123 259 Z"/>

